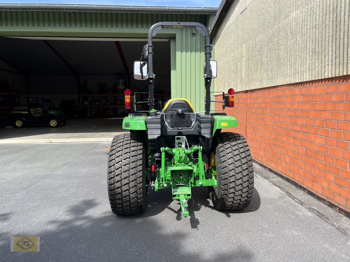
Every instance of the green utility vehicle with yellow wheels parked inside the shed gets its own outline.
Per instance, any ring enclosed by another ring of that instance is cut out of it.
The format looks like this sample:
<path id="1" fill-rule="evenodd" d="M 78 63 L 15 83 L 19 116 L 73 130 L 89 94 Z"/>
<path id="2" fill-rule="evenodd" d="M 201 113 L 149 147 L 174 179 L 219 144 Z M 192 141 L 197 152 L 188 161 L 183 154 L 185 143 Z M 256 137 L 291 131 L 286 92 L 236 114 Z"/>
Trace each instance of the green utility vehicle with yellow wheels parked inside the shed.
<path id="1" fill-rule="evenodd" d="M 27 107 L 15 107 L 11 112 L 14 128 L 33 124 L 47 124 L 50 128 L 57 128 L 66 124 L 66 116 L 56 109 L 51 99 L 28 97 L 27 102 Z"/>

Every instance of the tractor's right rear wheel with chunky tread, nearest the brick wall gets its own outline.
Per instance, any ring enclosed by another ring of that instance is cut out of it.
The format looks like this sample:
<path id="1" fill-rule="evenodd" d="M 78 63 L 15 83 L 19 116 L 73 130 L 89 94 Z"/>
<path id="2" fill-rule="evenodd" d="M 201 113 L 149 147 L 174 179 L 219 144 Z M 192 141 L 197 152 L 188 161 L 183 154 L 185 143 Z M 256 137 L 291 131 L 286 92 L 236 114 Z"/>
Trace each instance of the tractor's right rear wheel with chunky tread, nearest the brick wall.
<path id="1" fill-rule="evenodd" d="M 249 205 L 254 188 L 253 161 L 241 134 L 223 132 L 216 137 L 210 157 L 217 179 L 210 198 L 216 209 L 235 210 Z"/>

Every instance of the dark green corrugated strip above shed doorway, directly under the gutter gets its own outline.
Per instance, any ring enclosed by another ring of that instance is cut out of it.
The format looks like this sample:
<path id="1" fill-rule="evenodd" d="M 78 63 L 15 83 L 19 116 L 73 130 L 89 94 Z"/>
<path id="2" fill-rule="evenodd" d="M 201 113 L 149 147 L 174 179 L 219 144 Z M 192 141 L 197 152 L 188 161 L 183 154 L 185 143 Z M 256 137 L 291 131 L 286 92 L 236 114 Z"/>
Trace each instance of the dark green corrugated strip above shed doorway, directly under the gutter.
<path id="1" fill-rule="evenodd" d="M 209 15 L 99 13 L 61 11 L 0 11 L 0 26 L 146 28 L 161 21 L 205 21 Z"/>

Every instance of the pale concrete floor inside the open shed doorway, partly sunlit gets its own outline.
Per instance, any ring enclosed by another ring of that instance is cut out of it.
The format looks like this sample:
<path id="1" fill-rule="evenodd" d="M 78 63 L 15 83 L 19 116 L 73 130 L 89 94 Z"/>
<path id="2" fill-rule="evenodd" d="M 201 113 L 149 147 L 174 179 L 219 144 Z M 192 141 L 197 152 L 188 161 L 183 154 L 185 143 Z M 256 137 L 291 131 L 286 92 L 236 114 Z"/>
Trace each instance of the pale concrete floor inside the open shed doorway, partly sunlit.
<path id="1" fill-rule="evenodd" d="M 17 129 L 0 129 L 0 144 L 105 142 L 124 133 L 121 118 L 68 119 L 65 126 L 49 128 L 47 125 Z"/>

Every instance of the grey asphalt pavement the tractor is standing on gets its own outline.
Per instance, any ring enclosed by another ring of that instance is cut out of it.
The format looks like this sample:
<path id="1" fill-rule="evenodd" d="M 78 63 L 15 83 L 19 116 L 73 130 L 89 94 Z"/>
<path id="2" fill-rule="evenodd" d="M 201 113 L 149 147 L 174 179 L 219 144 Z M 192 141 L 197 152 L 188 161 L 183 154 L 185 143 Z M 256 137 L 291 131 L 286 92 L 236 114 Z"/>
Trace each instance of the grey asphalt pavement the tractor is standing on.
<path id="1" fill-rule="evenodd" d="M 182 218 L 170 190 L 150 190 L 144 214 L 116 216 L 106 146 L 0 145 L 1 261 L 350 261 L 349 219 L 255 164 L 244 210 L 218 211 L 194 188 Z M 10 252 L 13 236 L 40 237 L 40 252 Z"/>

